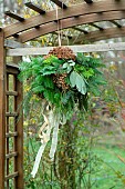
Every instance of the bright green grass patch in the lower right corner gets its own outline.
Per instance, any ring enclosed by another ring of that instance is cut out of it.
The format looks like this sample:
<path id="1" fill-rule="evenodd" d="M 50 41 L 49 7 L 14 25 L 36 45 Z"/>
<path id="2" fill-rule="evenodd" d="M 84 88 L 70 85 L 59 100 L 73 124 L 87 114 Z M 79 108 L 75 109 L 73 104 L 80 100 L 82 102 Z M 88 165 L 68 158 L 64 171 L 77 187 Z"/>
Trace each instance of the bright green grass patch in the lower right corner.
<path id="1" fill-rule="evenodd" d="M 117 146 L 97 146 L 94 153 L 102 160 L 98 172 L 92 176 L 95 180 L 93 189 L 125 188 L 125 149 Z M 123 160 L 123 161 L 122 161 Z"/>

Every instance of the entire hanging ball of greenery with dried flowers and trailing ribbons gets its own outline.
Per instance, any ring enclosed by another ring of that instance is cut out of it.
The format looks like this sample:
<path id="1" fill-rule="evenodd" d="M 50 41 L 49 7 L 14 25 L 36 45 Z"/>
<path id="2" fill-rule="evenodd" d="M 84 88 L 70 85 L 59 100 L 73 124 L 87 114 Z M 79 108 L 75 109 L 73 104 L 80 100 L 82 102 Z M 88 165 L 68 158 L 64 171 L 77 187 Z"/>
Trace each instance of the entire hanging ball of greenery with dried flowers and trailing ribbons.
<path id="1" fill-rule="evenodd" d="M 19 63 L 20 81 L 27 81 L 31 94 L 48 103 L 48 116 L 43 112 L 44 123 L 39 136 L 40 147 L 32 176 L 34 177 L 44 148 L 52 143 L 50 158 L 53 160 L 58 145 L 59 126 L 65 125 L 77 109 L 87 110 L 90 93 L 98 93 L 98 84 L 104 84 L 104 78 L 98 70 L 104 64 L 96 58 L 76 56 L 67 47 L 56 47 L 48 56 L 31 58 L 30 62 Z"/>

